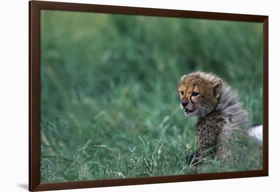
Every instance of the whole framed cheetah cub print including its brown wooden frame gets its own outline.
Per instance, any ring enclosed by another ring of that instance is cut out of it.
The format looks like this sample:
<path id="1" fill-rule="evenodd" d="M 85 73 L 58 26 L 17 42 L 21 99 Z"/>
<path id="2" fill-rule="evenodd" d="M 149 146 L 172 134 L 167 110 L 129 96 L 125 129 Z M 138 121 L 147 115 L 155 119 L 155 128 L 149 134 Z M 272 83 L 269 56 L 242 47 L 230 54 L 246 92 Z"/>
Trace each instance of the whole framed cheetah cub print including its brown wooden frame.
<path id="1" fill-rule="evenodd" d="M 29 190 L 268 175 L 268 16 L 29 2 Z"/>

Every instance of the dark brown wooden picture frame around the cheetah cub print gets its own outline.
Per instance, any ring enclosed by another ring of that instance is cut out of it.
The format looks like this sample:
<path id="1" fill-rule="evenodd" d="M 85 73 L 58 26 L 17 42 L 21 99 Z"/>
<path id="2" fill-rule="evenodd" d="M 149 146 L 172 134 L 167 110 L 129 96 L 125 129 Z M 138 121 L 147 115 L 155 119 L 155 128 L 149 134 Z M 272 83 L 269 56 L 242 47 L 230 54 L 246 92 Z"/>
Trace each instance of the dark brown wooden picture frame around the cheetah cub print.
<path id="1" fill-rule="evenodd" d="M 224 173 L 40 183 L 40 10 L 67 10 L 263 23 L 263 169 Z M 29 1 L 29 190 L 57 190 L 268 176 L 268 16 Z"/>

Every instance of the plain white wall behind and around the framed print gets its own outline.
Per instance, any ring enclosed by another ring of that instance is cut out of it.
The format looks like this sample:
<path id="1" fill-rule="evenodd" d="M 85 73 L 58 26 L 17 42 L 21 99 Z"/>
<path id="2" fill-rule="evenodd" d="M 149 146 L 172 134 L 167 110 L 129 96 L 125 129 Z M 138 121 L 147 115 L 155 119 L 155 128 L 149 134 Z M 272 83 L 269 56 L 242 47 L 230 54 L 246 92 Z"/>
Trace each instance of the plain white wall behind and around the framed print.
<path id="1" fill-rule="evenodd" d="M 152 184 L 71 191 L 277 191 L 279 131 L 276 113 L 279 73 L 279 14 L 276 1 L 144 1 L 73 0 L 103 5 L 269 15 L 269 177 Z M 28 1 L 2 1 L 1 62 L 1 191 L 23 191 L 28 185 Z M 278 117 L 277 117 L 278 118 Z M 272 189 L 272 187 L 274 187 Z"/>

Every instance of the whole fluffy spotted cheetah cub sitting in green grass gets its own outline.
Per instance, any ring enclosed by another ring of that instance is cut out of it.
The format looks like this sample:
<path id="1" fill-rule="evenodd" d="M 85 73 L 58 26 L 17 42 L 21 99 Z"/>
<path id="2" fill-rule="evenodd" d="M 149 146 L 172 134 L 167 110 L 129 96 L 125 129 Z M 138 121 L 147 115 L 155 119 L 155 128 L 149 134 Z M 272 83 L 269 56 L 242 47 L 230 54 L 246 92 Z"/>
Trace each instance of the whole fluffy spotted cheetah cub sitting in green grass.
<path id="1" fill-rule="evenodd" d="M 194 159 L 194 162 L 202 161 L 212 155 L 218 161 L 236 162 L 239 136 L 248 129 L 248 113 L 236 92 L 220 78 L 204 72 L 184 75 L 179 81 L 178 92 L 185 115 L 197 116 L 198 147 L 186 161 L 189 162 L 189 158 L 191 162 Z"/>

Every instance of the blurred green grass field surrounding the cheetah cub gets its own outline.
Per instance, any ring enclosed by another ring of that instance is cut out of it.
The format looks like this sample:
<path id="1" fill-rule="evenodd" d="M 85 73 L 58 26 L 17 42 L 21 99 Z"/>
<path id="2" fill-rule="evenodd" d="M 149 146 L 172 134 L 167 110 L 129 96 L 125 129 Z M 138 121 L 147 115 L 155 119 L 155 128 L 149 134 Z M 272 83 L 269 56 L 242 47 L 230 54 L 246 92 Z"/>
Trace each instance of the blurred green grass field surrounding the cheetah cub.
<path id="1" fill-rule="evenodd" d="M 213 72 L 262 122 L 262 25 L 41 11 L 41 182 L 262 169 L 248 141 L 239 166 L 185 163 L 195 117 L 177 82 Z"/>

